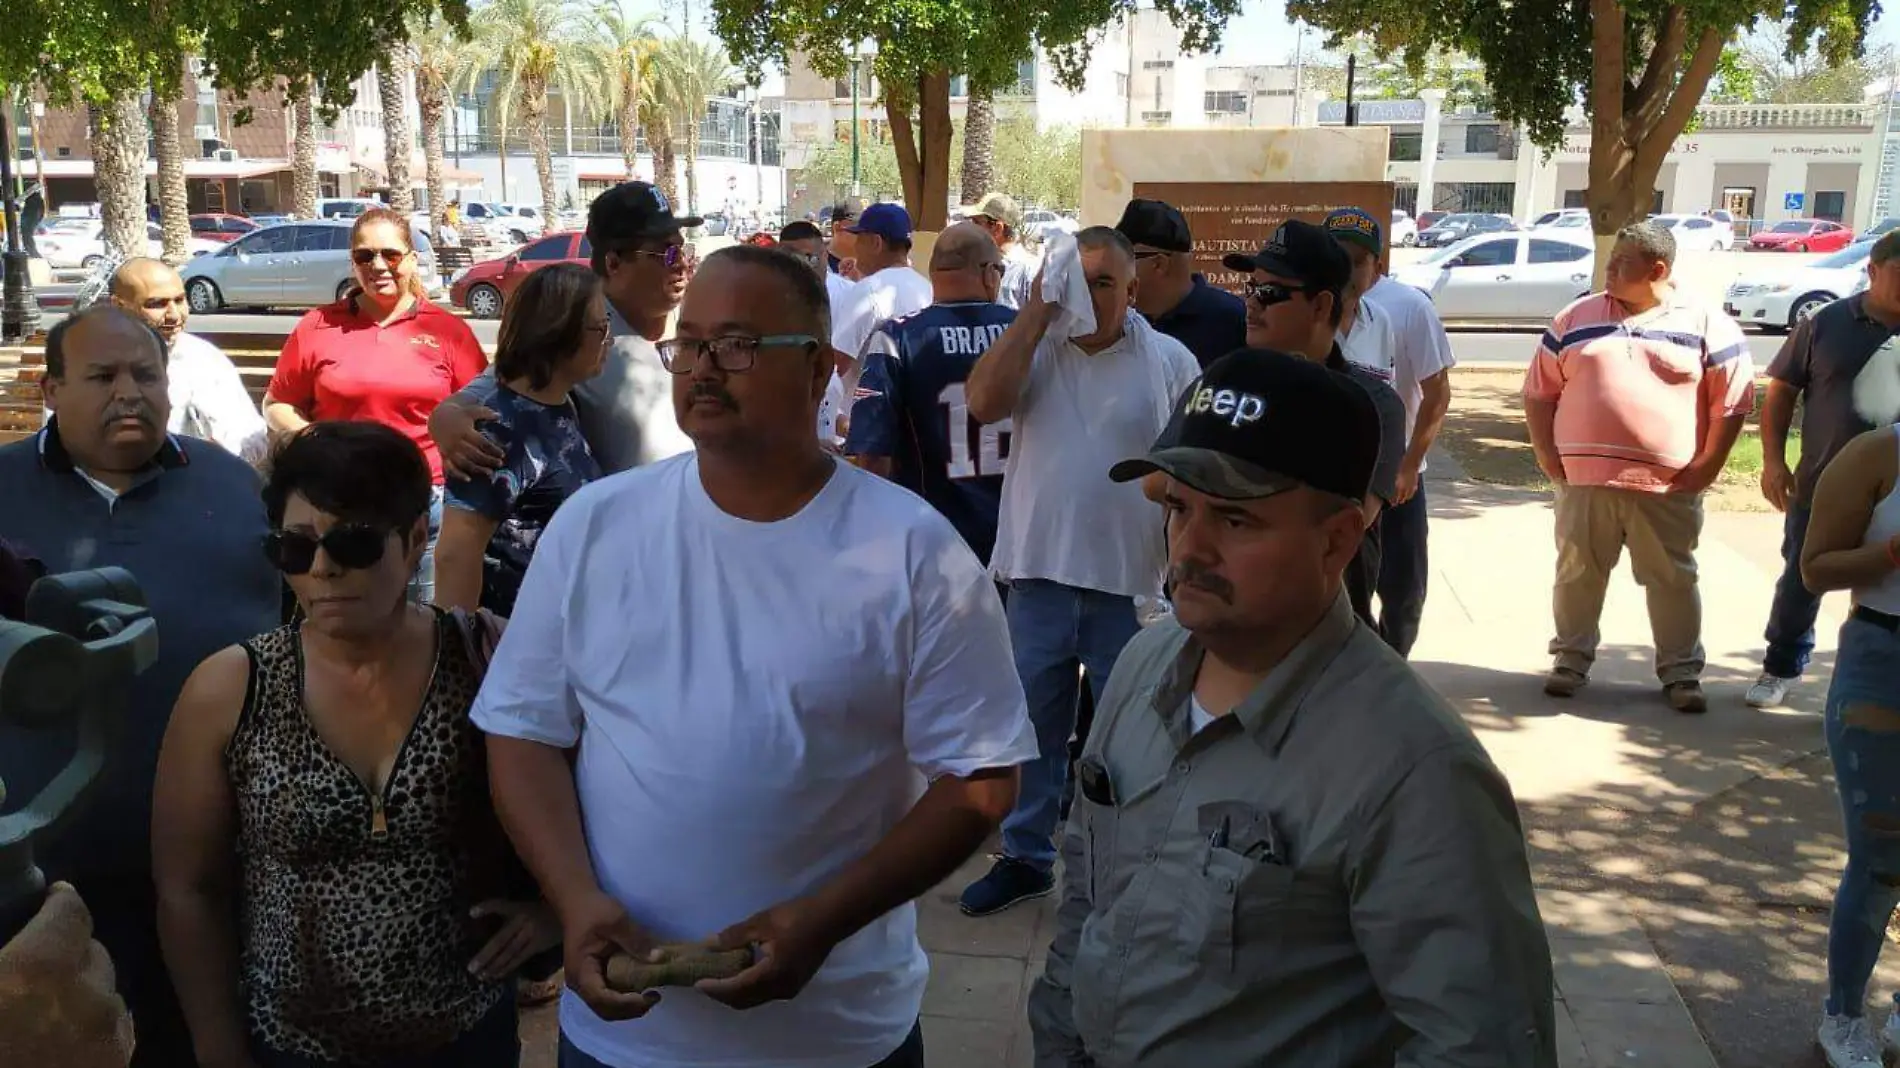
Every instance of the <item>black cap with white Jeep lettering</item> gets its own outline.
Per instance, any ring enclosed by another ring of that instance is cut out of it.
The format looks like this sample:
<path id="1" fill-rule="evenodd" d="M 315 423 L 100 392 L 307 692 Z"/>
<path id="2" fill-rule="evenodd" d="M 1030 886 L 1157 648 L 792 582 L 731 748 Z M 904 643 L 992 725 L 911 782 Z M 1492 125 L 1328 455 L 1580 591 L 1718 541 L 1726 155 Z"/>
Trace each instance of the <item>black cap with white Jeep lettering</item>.
<path id="1" fill-rule="evenodd" d="M 1298 486 L 1364 500 L 1378 462 L 1379 410 L 1364 386 L 1298 355 L 1243 348 L 1180 395 L 1148 456 L 1115 464 L 1108 477 L 1163 471 L 1224 500 Z"/>

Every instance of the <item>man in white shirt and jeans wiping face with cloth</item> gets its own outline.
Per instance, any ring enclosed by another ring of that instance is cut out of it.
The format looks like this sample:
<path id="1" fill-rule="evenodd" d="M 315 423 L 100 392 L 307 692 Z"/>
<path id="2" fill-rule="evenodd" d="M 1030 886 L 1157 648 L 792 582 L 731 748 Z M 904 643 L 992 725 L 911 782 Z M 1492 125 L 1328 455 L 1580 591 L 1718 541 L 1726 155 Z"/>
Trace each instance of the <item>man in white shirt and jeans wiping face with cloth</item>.
<path id="1" fill-rule="evenodd" d="M 988 916 L 1054 886 L 1054 830 L 1075 732 L 1077 663 L 1096 703 L 1136 597 L 1161 591 L 1163 519 L 1110 466 L 1144 454 L 1199 372 L 1193 353 L 1155 331 L 1134 302 L 1134 247 L 1108 226 L 1075 236 L 1096 329 L 1049 336 L 1056 308 L 1041 281 L 965 384 L 969 416 L 1013 420 L 990 570 L 1009 583 L 1009 640 L 1036 724 L 1037 758 L 1003 821 L 1003 857 L 961 897 Z"/>

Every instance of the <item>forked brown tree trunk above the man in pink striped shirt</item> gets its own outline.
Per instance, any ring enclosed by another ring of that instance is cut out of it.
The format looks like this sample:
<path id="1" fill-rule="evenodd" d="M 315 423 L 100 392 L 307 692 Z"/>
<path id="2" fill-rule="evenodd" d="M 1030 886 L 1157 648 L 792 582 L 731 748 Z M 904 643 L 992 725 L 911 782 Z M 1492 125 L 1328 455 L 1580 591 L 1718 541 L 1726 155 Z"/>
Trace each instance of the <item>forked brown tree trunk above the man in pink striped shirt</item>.
<path id="1" fill-rule="evenodd" d="M 1623 6 L 1619 0 L 1590 0 L 1590 188 L 1585 203 L 1596 234 L 1590 285 L 1602 289 L 1617 230 L 1649 213 L 1662 160 L 1695 118 L 1725 38 L 1706 29 L 1689 53 L 1689 17 L 1682 6 L 1670 6 L 1649 42 L 1642 78 L 1632 84 L 1624 63 Z"/>

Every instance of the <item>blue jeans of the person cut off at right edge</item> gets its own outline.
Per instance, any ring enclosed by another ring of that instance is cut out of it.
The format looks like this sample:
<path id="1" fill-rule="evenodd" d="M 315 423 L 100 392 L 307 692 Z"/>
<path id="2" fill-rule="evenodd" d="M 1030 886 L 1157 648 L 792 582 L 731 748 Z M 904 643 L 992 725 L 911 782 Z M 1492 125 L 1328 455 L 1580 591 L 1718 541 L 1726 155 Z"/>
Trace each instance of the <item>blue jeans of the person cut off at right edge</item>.
<path id="1" fill-rule="evenodd" d="M 1828 1011 L 1858 1017 L 1900 905 L 1900 635 L 1841 625 L 1826 732 L 1847 836 L 1828 922 Z"/>

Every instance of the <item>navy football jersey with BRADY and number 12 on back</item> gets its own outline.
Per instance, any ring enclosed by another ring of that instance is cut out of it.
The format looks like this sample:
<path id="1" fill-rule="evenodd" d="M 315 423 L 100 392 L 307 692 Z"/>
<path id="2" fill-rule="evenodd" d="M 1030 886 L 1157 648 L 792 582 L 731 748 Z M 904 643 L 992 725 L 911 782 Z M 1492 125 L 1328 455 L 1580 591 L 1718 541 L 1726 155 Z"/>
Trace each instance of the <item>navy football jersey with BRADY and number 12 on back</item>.
<path id="1" fill-rule="evenodd" d="M 851 456 L 889 456 L 893 479 L 940 511 L 984 564 L 1003 504 L 1009 420 L 969 418 L 963 382 L 1015 319 L 1011 308 L 967 300 L 882 323 L 864 342 L 844 447 Z"/>

